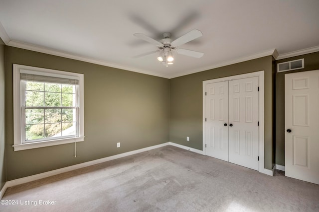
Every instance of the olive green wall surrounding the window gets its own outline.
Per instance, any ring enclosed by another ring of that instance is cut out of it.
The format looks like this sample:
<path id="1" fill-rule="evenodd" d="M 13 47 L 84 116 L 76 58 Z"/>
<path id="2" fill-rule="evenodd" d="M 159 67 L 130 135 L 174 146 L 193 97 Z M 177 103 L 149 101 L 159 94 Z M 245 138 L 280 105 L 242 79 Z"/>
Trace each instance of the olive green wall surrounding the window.
<path id="1" fill-rule="evenodd" d="M 84 74 L 85 141 L 13 151 L 12 64 Z M 6 47 L 7 179 L 169 141 L 169 79 Z M 117 148 L 117 142 L 121 147 Z"/>

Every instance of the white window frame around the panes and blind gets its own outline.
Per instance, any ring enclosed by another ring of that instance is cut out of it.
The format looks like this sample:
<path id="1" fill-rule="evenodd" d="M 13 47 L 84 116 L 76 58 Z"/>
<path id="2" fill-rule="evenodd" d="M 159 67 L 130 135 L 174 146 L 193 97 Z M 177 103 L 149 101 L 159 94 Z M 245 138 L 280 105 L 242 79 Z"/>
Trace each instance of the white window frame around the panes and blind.
<path id="1" fill-rule="evenodd" d="M 22 117 L 22 100 L 21 95 L 21 72 L 24 73 L 36 73 L 38 75 L 52 76 L 59 78 L 78 79 L 78 119 L 76 124 L 78 126 L 78 135 L 71 138 L 57 138 L 56 140 L 49 141 L 35 141 L 29 143 L 23 143 L 25 130 L 24 118 Z M 43 69 L 38 67 L 23 66 L 13 64 L 13 148 L 14 151 L 40 148 L 45 146 L 60 145 L 65 143 L 74 143 L 84 141 L 84 75 L 81 73 L 73 73 L 67 71 L 57 71 L 51 69 Z"/>

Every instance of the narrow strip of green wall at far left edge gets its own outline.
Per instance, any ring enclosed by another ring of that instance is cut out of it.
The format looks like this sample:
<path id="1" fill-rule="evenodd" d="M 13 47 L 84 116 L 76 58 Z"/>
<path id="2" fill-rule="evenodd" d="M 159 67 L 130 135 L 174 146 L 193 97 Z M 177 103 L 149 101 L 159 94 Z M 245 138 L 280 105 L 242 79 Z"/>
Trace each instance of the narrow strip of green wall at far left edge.
<path id="1" fill-rule="evenodd" d="M 4 69 L 5 45 L 0 39 L 0 190 L 5 183 Z"/>

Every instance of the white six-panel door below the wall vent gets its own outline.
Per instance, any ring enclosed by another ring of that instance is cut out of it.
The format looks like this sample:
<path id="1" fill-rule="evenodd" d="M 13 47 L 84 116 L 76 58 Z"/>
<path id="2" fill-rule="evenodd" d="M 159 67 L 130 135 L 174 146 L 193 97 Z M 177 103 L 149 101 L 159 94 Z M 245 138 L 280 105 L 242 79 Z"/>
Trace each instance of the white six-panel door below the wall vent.
<path id="1" fill-rule="evenodd" d="M 285 74 L 285 175 L 319 184 L 319 70 Z"/>

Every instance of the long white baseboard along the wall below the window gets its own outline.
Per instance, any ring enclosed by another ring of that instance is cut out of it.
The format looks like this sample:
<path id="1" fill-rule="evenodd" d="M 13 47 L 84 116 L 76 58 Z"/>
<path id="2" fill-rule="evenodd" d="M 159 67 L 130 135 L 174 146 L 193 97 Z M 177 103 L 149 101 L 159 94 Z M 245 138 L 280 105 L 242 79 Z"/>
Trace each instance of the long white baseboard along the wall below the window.
<path id="1" fill-rule="evenodd" d="M 28 182 L 31 182 L 31 181 L 34 181 L 34 180 L 39 180 L 39 179 L 42 179 L 42 178 L 45 178 L 45 177 L 50 177 L 50 176 L 53 176 L 53 175 L 57 175 L 57 174 L 61 174 L 61 173 L 64 173 L 64 172 L 72 171 L 72 170 L 75 170 L 75 169 L 80 169 L 80 168 L 84 168 L 84 167 L 87 167 L 87 166 L 95 165 L 95 164 L 98 164 L 98 163 L 103 163 L 103 162 L 114 160 L 114 159 L 118 159 L 118 158 L 121 158 L 121 157 L 126 157 L 126 156 L 129 156 L 129 155 L 132 155 L 132 154 L 137 154 L 137 153 L 140 153 L 140 152 L 149 151 L 151 149 L 159 148 L 159 147 L 166 146 L 166 145 L 169 145 L 169 142 L 161 143 L 161 144 L 158 144 L 158 145 L 149 146 L 149 147 L 146 147 L 146 148 L 141 148 L 141 149 L 137 149 L 137 150 L 134 150 L 134 151 L 129 151 L 129 152 L 125 152 L 125 153 L 121 153 L 121 154 L 117 154 L 117 155 L 113 155 L 113 156 L 109 156 L 109 157 L 104 157 L 104 158 L 97 159 L 97 160 L 91 160 L 91 161 L 88 161 L 88 162 L 79 163 L 79 164 L 76 164 L 76 165 L 67 166 L 67 167 L 64 167 L 64 168 L 43 172 L 43 173 L 40 173 L 40 174 L 35 174 L 35 175 L 27 176 L 27 177 L 22 177 L 22 178 L 15 179 L 15 180 L 10 180 L 10 181 L 7 181 L 5 183 L 5 185 L 6 185 L 6 188 L 8 188 L 8 187 L 20 185 L 20 184 L 23 184 L 23 183 L 28 183 Z"/>

